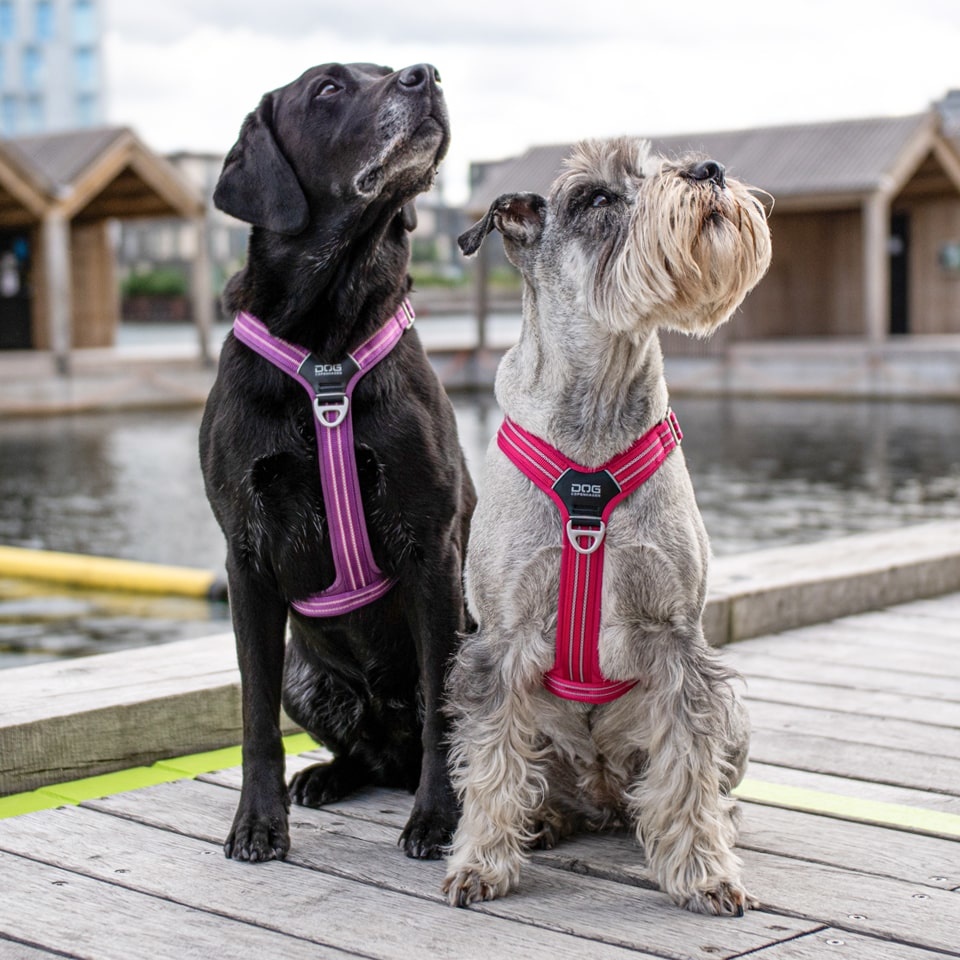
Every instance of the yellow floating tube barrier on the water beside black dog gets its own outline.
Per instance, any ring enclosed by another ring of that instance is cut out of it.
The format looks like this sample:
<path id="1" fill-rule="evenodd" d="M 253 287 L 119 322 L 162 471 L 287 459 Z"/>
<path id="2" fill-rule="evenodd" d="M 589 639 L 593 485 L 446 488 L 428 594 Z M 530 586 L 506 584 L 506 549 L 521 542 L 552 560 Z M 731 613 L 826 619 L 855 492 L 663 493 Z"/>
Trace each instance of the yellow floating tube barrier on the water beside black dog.
<path id="1" fill-rule="evenodd" d="M 43 580 L 91 590 L 119 590 L 210 600 L 226 598 L 222 579 L 209 570 L 24 547 L 0 546 L 0 576 Z"/>

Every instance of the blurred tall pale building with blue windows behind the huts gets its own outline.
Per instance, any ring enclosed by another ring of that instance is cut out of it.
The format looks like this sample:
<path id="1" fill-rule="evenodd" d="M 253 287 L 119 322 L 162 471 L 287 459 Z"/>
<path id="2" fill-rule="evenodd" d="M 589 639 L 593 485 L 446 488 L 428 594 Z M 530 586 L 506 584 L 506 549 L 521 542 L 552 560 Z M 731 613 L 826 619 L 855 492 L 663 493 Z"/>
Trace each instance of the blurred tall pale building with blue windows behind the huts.
<path id="1" fill-rule="evenodd" d="M 0 136 L 104 122 L 99 0 L 0 0 Z"/>

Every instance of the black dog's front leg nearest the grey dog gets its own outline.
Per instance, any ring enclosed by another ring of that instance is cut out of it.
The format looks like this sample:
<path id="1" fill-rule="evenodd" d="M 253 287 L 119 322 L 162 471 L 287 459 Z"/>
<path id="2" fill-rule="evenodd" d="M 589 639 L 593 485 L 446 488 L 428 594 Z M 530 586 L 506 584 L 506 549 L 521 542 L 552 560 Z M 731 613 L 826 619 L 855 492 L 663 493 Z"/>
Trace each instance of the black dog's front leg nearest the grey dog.
<path id="1" fill-rule="evenodd" d="M 449 721 L 442 699 L 447 668 L 464 626 L 463 588 L 459 550 L 450 545 L 448 551 L 449 556 L 438 558 L 433 566 L 432 583 L 425 577 L 419 584 L 411 615 L 423 697 L 423 760 L 413 811 L 400 841 L 408 857 L 421 860 L 445 854 L 459 817 L 447 764 Z"/>

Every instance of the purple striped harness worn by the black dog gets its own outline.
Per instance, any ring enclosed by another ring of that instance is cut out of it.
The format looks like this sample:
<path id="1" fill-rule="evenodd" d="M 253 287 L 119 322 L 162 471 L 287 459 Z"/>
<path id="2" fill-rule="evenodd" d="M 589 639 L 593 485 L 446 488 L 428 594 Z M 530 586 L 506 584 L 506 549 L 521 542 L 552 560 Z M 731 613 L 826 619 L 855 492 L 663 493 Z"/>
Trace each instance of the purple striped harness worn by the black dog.
<path id="1" fill-rule="evenodd" d="M 326 590 L 290 604 L 305 616 L 349 613 L 382 597 L 396 583 L 396 577 L 380 571 L 370 549 L 350 408 L 359 379 L 396 346 L 413 320 L 413 308 L 404 300 L 369 340 L 340 363 L 323 363 L 309 350 L 273 336 L 264 323 L 249 313 L 241 311 L 234 320 L 236 338 L 293 377 L 313 401 L 320 486 L 337 576 Z"/>

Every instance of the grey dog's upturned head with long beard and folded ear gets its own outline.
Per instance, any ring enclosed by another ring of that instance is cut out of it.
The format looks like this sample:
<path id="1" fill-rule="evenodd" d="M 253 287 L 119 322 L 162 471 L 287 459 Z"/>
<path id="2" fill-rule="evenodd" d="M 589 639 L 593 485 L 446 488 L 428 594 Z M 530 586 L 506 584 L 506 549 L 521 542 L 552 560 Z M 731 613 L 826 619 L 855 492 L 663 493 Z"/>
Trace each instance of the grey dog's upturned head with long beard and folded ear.
<path id="1" fill-rule="evenodd" d="M 770 265 L 750 188 L 714 161 L 666 160 L 633 138 L 577 144 L 548 198 L 499 197 L 461 249 L 475 253 L 494 229 L 541 303 L 633 337 L 658 326 L 710 333 Z"/>

